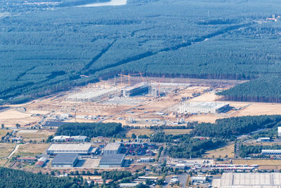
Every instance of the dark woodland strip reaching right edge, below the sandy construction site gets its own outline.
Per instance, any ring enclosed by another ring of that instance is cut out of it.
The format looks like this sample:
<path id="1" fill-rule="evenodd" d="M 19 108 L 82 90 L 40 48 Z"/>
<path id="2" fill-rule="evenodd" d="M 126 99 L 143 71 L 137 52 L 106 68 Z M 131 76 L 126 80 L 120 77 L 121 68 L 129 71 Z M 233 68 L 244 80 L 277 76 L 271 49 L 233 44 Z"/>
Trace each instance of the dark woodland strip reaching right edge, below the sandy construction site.
<path id="1" fill-rule="evenodd" d="M 200 123 L 190 132 L 193 136 L 235 139 L 242 134 L 255 130 L 267 129 L 281 125 L 281 115 L 257 115 L 235 118 L 223 118 L 216 123 Z"/>

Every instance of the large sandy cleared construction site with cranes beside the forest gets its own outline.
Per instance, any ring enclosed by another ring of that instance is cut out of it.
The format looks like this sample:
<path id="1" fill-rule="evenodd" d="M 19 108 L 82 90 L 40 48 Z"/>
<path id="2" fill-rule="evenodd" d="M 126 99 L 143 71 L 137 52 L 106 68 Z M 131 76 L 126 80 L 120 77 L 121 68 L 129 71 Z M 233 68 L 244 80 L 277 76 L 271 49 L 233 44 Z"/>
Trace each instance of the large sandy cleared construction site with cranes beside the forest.
<path id="1" fill-rule="evenodd" d="M 50 121 L 117 122 L 142 127 L 214 123 L 218 118 L 278 113 L 280 104 L 226 102 L 216 96 L 216 92 L 242 82 L 119 74 L 115 79 L 75 87 L 27 104 L 5 106 L 0 120 L 6 127 L 15 123 L 41 126 Z"/>

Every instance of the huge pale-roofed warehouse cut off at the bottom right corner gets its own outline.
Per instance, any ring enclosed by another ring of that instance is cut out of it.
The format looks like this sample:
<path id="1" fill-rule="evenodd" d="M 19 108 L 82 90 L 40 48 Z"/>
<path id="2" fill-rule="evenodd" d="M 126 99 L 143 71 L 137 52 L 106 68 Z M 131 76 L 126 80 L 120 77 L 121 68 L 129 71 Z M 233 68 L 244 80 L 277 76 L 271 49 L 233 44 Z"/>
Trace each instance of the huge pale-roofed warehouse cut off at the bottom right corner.
<path id="1" fill-rule="evenodd" d="M 221 188 L 280 188 L 281 173 L 223 173 Z"/>

